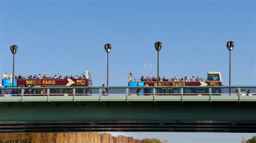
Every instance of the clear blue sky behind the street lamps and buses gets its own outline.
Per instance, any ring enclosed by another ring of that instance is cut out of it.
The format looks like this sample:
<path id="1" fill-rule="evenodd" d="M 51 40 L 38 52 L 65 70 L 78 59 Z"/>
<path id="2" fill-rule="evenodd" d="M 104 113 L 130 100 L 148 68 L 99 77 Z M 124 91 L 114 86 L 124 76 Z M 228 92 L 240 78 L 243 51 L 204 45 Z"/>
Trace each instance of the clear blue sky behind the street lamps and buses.
<path id="1" fill-rule="evenodd" d="M 156 75 L 159 40 L 161 75 L 220 71 L 227 85 L 226 42 L 233 40 L 232 85 L 256 85 L 255 1 L 1 1 L 0 20 L 1 73 L 12 72 L 10 46 L 16 44 L 17 74 L 88 69 L 93 85 L 101 85 L 109 42 L 110 85 L 127 85 L 129 71 Z"/>

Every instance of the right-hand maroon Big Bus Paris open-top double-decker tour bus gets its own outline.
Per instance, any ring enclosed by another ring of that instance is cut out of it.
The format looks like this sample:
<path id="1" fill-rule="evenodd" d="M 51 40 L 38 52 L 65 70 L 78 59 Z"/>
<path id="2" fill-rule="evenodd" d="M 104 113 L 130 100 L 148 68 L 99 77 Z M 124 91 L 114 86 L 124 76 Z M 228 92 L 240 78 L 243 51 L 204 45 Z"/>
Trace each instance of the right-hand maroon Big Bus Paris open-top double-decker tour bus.
<path id="1" fill-rule="evenodd" d="M 180 88 L 175 87 L 184 87 L 183 95 L 208 95 L 209 87 L 208 86 L 220 86 L 221 85 L 221 75 L 220 72 L 208 72 L 207 79 L 203 78 L 187 78 L 187 79 L 164 79 L 159 81 L 159 87 L 156 90 L 158 95 L 180 95 Z M 131 87 L 143 87 L 143 86 L 157 86 L 156 78 L 143 78 L 143 79 L 135 79 L 132 77 L 132 73 L 129 73 L 129 86 Z M 191 86 L 201 86 L 202 88 L 190 88 Z M 166 88 L 167 87 L 167 88 Z M 170 87 L 170 88 L 169 88 Z M 204 88 L 205 87 L 205 88 Z M 130 90 L 131 93 L 138 93 L 138 91 L 134 91 L 137 89 Z M 142 91 L 143 89 L 139 89 Z M 152 89 L 146 89 L 148 93 L 152 93 Z M 143 91 L 142 91 L 143 92 Z M 221 92 L 220 88 L 212 88 L 213 94 L 219 94 Z M 138 95 L 143 95 L 139 94 Z"/>

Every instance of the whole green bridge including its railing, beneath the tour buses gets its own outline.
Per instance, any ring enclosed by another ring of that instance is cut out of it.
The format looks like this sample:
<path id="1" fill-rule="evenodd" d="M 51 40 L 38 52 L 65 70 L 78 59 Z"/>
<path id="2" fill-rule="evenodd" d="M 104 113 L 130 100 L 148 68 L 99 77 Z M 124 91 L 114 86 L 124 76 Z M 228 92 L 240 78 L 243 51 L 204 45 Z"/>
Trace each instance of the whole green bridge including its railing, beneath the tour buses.
<path id="1" fill-rule="evenodd" d="M 0 96 L 0 133 L 256 132 L 256 86 L 0 88 Z"/>

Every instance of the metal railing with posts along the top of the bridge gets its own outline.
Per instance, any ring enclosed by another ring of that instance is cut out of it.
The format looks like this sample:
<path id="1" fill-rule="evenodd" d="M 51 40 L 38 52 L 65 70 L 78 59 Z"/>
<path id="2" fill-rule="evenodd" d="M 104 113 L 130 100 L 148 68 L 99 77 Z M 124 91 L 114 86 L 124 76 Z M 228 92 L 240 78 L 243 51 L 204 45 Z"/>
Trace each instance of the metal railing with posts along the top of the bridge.
<path id="1" fill-rule="evenodd" d="M 256 86 L 0 88 L 0 96 L 256 96 Z"/>

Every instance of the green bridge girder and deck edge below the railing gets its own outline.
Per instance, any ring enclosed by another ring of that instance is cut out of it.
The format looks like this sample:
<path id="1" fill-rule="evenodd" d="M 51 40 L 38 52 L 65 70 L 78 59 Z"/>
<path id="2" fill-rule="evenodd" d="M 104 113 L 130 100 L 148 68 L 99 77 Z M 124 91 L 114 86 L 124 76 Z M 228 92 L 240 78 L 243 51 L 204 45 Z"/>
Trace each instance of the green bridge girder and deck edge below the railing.
<path id="1" fill-rule="evenodd" d="M 17 96 L 0 103 L 0 132 L 256 132 L 256 96 Z"/>

